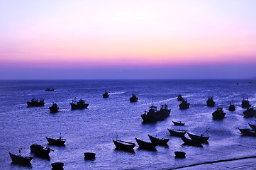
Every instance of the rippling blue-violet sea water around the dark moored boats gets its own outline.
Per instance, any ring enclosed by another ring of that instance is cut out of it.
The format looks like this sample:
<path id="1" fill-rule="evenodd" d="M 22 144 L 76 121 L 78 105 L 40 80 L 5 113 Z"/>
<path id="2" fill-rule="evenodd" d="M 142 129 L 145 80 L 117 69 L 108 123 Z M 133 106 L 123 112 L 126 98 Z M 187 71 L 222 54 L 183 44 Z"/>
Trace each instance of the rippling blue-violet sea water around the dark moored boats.
<path id="1" fill-rule="evenodd" d="M 102 97 L 105 90 L 108 98 Z M 130 103 L 132 94 L 138 102 Z M 190 103 L 187 110 L 179 109 L 179 94 Z M 208 96 L 223 106 L 223 120 L 213 120 L 216 106 L 206 106 Z M 27 107 L 32 98 L 43 98 L 45 106 Z M 88 108 L 72 111 L 69 103 L 74 98 L 84 99 Z M 256 124 L 255 117 L 243 118 L 243 98 L 256 106 L 256 80 L 1 80 L 0 169 L 52 169 L 54 162 L 63 162 L 64 169 L 256 169 L 256 137 L 242 136 L 238 130 Z M 228 111 L 231 101 L 233 112 Z M 57 113 L 48 109 L 53 102 L 60 108 Z M 161 104 L 171 109 L 169 117 L 143 123 L 140 115 Z M 172 120 L 185 125 L 174 126 Z M 188 146 L 167 129 L 195 135 L 208 130 L 210 138 L 203 147 Z M 45 137 L 60 135 L 67 140 L 65 146 L 48 145 Z M 135 137 L 150 142 L 148 135 L 167 136 L 168 147 L 140 149 Z M 134 142 L 134 152 L 115 149 L 116 139 Z M 34 157 L 33 144 L 50 147 L 50 159 Z M 9 152 L 18 154 L 19 149 L 21 155 L 34 157 L 30 166 L 12 163 Z M 186 157 L 175 158 L 175 151 L 186 152 Z M 85 160 L 84 152 L 94 152 L 96 159 Z"/>

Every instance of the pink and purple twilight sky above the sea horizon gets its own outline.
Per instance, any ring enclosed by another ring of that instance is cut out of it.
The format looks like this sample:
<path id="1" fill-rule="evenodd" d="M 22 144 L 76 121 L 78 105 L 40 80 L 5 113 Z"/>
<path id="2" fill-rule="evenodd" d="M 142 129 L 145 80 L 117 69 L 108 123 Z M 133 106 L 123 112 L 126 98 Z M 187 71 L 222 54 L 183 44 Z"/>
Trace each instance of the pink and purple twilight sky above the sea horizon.
<path id="1" fill-rule="evenodd" d="M 0 0 L 0 79 L 247 79 L 255 0 Z"/>

